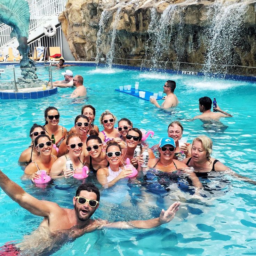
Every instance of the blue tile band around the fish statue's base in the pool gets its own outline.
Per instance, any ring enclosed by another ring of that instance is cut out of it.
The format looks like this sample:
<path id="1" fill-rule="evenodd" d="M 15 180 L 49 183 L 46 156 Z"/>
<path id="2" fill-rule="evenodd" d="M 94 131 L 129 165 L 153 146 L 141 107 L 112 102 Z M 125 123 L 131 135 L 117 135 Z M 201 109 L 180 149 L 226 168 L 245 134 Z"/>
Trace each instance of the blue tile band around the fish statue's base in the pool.
<path id="1" fill-rule="evenodd" d="M 57 87 L 44 91 L 31 91 L 30 93 L 6 93 L 0 91 L 0 99 L 37 99 L 56 94 Z"/>

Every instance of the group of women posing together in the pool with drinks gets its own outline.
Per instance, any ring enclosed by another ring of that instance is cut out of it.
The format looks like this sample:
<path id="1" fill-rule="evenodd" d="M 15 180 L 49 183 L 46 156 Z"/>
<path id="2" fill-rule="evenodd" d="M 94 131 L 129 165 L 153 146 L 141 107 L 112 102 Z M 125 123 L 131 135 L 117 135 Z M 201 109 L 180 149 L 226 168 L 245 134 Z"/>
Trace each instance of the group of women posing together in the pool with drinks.
<path id="1" fill-rule="evenodd" d="M 149 162 L 147 168 L 142 168 L 142 154 L 147 144 L 142 142 L 141 130 L 133 127 L 133 123 L 127 118 L 121 118 L 117 122 L 118 127 L 115 127 L 117 118 L 106 110 L 99 119 L 103 126 L 103 130 L 99 131 L 94 123 L 95 115 L 93 106 L 83 106 L 81 114 L 74 120 L 74 127 L 67 132 L 65 127 L 59 125 L 58 110 L 48 107 L 45 110 L 45 125 L 34 123 L 30 129 L 31 145 L 19 157 L 19 162 L 27 164 L 24 171 L 26 176 L 34 181 L 40 177 L 38 170 L 46 170 L 53 179 L 69 178 L 74 171 L 87 166 L 102 186 L 111 187 L 120 179 L 131 175 L 132 168 L 125 168 L 129 159 L 138 173 L 145 169 L 164 173 L 182 172 L 195 187 L 201 188 L 198 177 L 207 177 L 210 172 L 229 169 L 211 157 L 213 142 L 207 136 L 194 138 L 191 145 L 179 145 L 183 126 L 178 121 L 171 122 L 167 128 L 167 136 L 161 138 L 159 144 L 152 149 L 148 149 Z M 51 139 L 53 134 L 55 144 Z M 140 146 L 141 154 L 134 157 L 137 145 Z M 74 171 L 66 169 L 68 158 L 73 163 Z M 194 168 L 191 170 L 188 167 Z"/>

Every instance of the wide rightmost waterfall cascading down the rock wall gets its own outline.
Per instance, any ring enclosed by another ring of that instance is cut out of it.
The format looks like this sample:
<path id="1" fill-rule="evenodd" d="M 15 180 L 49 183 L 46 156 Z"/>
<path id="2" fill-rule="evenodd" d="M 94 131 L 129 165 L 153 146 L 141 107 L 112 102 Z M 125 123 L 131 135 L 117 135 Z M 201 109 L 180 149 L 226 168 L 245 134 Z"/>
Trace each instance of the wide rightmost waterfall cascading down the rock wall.
<path id="1" fill-rule="evenodd" d="M 248 8 L 245 2 L 216 2 L 207 12 L 208 21 L 206 35 L 209 41 L 205 60 L 204 73 L 216 72 L 214 64 L 234 64 L 232 52 L 237 46 L 242 32 L 244 14 Z M 223 70 L 219 70 L 223 73 Z M 218 71 L 217 71 L 218 72 Z"/>

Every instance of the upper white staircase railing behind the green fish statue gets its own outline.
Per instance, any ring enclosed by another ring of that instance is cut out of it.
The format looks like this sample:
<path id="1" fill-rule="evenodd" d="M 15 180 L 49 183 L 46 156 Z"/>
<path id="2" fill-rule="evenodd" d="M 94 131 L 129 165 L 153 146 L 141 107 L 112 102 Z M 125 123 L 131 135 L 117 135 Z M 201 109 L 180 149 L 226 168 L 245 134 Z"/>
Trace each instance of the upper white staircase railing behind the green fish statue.
<path id="1" fill-rule="evenodd" d="M 64 11 L 65 3 L 66 0 L 39 0 L 31 5 L 29 33 L 50 22 L 53 17 L 58 17 Z M 17 40 L 10 37 L 12 30 L 7 24 L 0 27 L 0 48 L 4 48 Z"/>

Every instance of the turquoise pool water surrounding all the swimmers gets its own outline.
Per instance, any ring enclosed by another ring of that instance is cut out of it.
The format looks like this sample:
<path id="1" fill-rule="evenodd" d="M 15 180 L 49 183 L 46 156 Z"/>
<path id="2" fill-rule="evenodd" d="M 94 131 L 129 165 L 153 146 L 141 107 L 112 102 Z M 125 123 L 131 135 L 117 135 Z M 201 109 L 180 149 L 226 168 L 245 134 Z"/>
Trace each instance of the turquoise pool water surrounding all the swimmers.
<path id="1" fill-rule="evenodd" d="M 34 122 L 43 124 L 43 112 L 53 105 L 58 108 L 60 124 L 70 129 L 84 104 L 96 108 L 96 124 L 100 114 L 109 109 L 118 119 L 126 117 L 134 127 L 152 129 L 156 144 L 167 134 L 171 121 L 179 120 L 184 135 L 191 142 L 195 136 L 205 134 L 213 139 L 213 157 L 239 173 L 256 180 L 256 87 L 249 82 L 203 80 L 202 77 L 170 74 L 141 73 L 138 71 L 104 70 L 92 67 L 69 67 L 74 74 L 84 77 L 88 97 L 85 101 L 71 101 L 62 97 L 72 89 L 59 89 L 57 95 L 41 99 L 0 100 L 1 145 L 0 169 L 24 190 L 39 199 L 72 207 L 72 197 L 81 181 L 74 179 L 54 181 L 46 189 L 21 181 L 22 167 L 17 160 L 30 144 L 29 130 Z M 53 69 L 53 76 L 62 79 L 61 70 Z M 121 85 L 134 85 L 158 92 L 166 80 L 175 80 L 180 104 L 172 112 L 156 109 L 149 102 L 114 91 Z M 220 124 L 202 127 L 199 120 L 190 121 L 199 114 L 198 99 L 216 97 L 221 108 L 233 118 L 223 118 Z M 88 178 L 95 181 L 93 176 Z M 234 177 L 218 174 L 203 181 L 205 198 L 192 197 L 193 188 L 186 180 L 171 182 L 168 189 L 152 188 L 147 176 L 137 181 L 118 183 L 101 192 L 101 205 L 94 217 L 110 221 L 147 219 L 157 217 L 162 208 L 175 200 L 182 202 L 177 217 L 168 225 L 151 230 L 104 230 L 85 234 L 67 242 L 53 255 L 256 255 L 256 191 L 255 185 Z M 96 182 L 96 181 L 95 181 Z M 181 188 L 177 184 L 183 184 Z M 0 246 L 7 241 L 19 241 L 31 233 L 41 222 L 0 191 Z M 32 254 L 31 254 L 32 255 Z"/>

